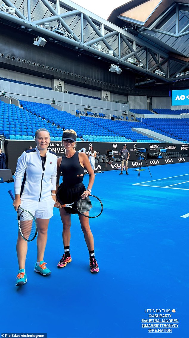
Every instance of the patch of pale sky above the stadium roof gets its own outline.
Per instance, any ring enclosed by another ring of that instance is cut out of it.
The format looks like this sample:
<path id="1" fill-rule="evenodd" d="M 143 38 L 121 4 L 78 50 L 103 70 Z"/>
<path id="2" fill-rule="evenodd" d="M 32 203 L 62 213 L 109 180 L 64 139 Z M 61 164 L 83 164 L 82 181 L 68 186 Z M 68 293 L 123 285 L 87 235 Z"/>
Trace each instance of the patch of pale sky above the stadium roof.
<path id="1" fill-rule="evenodd" d="M 79 6 L 84 7 L 90 12 L 98 15 L 99 17 L 107 20 L 109 15 L 112 13 L 112 10 L 124 5 L 125 3 L 131 0 L 116 0 L 116 1 L 105 1 L 105 0 L 73 0 L 73 2 L 77 3 Z"/>

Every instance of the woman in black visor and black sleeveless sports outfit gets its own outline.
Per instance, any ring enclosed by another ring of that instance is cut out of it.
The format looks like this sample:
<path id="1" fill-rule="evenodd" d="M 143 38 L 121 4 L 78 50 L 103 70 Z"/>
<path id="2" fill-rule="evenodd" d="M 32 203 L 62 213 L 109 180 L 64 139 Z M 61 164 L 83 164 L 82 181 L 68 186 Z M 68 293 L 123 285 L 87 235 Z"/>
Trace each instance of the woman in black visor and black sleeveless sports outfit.
<path id="1" fill-rule="evenodd" d="M 77 134 L 73 129 L 66 129 L 63 132 L 62 142 L 65 155 L 58 158 L 57 162 L 57 187 L 56 187 L 56 207 L 60 210 L 60 217 L 63 223 L 62 239 L 64 254 L 58 262 L 58 268 L 65 267 L 72 261 L 70 255 L 71 238 L 71 214 L 77 214 L 74 208 L 64 208 L 62 204 L 70 204 L 77 201 L 80 197 L 85 198 L 91 193 L 94 183 L 94 173 L 90 166 L 85 152 L 76 151 Z M 89 174 L 87 189 L 83 185 L 84 169 Z M 59 185 L 60 174 L 62 172 L 63 182 Z M 81 229 L 84 233 L 85 242 L 89 250 L 89 266 L 92 273 L 99 272 L 98 263 L 94 256 L 94 239 L 89 226 L 89 219 L 78 213 Z"/>

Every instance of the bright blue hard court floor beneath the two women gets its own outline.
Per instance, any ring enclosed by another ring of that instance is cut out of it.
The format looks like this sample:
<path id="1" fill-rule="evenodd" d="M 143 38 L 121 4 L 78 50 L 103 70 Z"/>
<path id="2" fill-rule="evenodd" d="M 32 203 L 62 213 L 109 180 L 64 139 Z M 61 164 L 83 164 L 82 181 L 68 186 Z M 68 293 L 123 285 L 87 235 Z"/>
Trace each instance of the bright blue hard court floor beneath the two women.
<path id="1" fill-rule="evenodd" d="M 120 171 L 96 174 L 92 194 L 102 199 L 104 210 L 90 226 L 99 273 L 90 273 L 77 215 L 72 215 L 72 262 L 57 268 L 63 254 L 62 224 L 54 209 L 45 252 L 52 274 L 43 277 L 34 272 L 35 239 L 28 244 L 28 282 L 22 287 L 15 287 L 17 214 L 8 195 L 14 183 L 0 184 L 1 333 L 47 333 L 48 338 L 189 337 L 189 217 L 181 217 L 189 213 L 189 163 L 153 166 L 150 171 L 152 178 L 147 168 L 139 178 L 132 169 L 127 176 Z M 85 175 L 86 185 L 87 180 Z M 164 188 L 177 183 L 180 189 Z M 179 320 L 179 327 L 170 333 L 149 333 L 141 322 L 149 319 L 147 309 L 161 309 L 161 314 L 162 309 L 175 309 L 169 314 Z"/>

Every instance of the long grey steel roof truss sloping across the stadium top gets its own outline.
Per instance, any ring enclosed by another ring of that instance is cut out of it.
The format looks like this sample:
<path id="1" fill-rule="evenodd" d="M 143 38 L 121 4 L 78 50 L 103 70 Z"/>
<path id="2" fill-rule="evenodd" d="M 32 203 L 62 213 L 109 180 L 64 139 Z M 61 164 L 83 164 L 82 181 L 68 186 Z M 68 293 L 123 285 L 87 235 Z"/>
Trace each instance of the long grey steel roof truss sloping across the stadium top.
<path id="1" fill-rule="evenodd" d="M 178 10 L 176 7 L 175 33 L 168 32 L 168 38 L 188 37 L 189 24 L 179 28 Z M 189 17 L 189 11 L 185 15 Z M 178 80 L 178 73 L 184 73 L 180 79 L 189 77 L 185 75 L 188 60 L 175 55 L 171 46 L 154 37 L 165 34 L 157 28 L 160 22 L 157 20 L 151 29 L 141 28 L 140 24 L 136 34 L 135 30 L 122 29 L 69 0 L 15 0 L 14 3 L 1 0 L 0 18 L 6 25 L 143 74 L 147 79 L 172 82 Z M 163 16 L 159 20 L 164 20 Z"/>

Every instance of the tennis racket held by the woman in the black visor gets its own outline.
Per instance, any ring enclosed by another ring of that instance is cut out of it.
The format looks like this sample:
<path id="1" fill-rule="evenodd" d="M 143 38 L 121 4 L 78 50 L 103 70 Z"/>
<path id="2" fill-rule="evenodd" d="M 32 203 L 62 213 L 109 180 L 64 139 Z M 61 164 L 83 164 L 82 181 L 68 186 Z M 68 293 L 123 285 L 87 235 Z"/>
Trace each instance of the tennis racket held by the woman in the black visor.
<path id="1" fill-rule="evenodd" d="M 74 204 L 74 206 L 72 206 Z M 103 204 L 97 196 L 88 195 L 85 198 L 79 198 L 70 204 L 63 204 L 61 207 L 74 208 L 81 215 L 88 218 L 95 218 L 102 214 Z M 76 208 L 75 208 L 76 207 Z"/>

